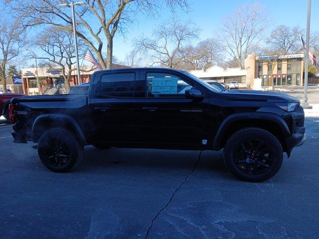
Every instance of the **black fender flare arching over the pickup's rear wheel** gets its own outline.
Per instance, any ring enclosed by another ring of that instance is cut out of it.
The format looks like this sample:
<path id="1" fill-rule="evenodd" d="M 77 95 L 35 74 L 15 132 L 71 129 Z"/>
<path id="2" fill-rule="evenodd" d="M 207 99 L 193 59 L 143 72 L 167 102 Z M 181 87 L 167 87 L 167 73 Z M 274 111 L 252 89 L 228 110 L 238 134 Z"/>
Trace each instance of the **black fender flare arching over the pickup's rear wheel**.
<path id="1" fill-rule="evenodd" d="M 43 114 L 43 115 L 38 116 L 34 120 L 33 125 L 32 125 L 32 141 L 33 142 L 38 141 L 38 138 L 36 135 L 37 126 L 41 123 L 41 121 L 48 120 L 48 119 L 52 122 L 60 121 L 60 122 L 63 122 L 63 123 L 70 125 L 72 127 L 72 129 L 74 130 L 75 134 L 77 135 L 77 137 L 80 139 L 81 143 L 83 143 L 84 145 L 88 144 L 79 124 L 71 116 L 64 115 L 64 114 Z"/>

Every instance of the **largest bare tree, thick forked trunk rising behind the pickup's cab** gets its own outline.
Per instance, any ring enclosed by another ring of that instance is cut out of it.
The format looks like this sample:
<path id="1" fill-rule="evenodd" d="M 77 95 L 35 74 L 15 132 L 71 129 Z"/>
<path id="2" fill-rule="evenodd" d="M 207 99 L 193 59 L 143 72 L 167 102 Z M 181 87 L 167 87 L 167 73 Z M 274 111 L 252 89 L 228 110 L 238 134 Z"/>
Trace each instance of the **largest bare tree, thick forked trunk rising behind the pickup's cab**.
<path id="1" fill-rule="evenodd" d="M 73 32 L 70 10 L 58 6 L 65 0 L 11 0 L 11 8 L 26 26 L 49 24 Z M 117 31 L 126 32 L 136 12 L 154 14 L 164 2 L 171 10 L 188 8 L 187 0 L 85 0 L 75 7 L 76 34 L 95 52 L 103 69 L 111 69 L 113 38 Z M 94 22 L 94 24 L 92 24 Z M 106 60 L 103 39 L 107 40 Z"/>

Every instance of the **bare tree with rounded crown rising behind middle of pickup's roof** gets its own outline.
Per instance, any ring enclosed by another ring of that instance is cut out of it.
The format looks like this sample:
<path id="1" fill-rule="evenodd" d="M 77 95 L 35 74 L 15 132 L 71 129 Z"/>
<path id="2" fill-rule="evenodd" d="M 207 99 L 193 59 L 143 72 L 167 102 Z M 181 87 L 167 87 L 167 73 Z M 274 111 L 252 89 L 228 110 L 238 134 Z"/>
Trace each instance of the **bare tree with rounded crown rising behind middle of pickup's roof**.
<path id="1" fill-rule="evenodd" d="M 152 65 L 176 68 L 183 60 L 183 47 L 197 38 L 199 28 L 191 21 L 170 18 L 153 30 L 152 37 L 142 36 L 134 40 L 136 49 L 148 54 Z"/>

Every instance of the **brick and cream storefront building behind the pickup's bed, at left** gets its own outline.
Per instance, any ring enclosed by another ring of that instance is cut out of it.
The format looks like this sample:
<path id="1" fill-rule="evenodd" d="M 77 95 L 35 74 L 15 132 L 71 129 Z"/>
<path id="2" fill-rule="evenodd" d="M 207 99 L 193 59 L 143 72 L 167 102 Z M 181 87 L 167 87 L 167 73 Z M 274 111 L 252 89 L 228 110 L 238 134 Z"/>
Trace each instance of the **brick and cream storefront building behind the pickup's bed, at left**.
<path id="1" fill-rule="evenodd" d="M 129 68 L 129 66 L 112 64 L 112 69 Z M 62 69 L 60 67 L 38 67 L 21 69 L 22 88 L 23 93 L 26 95 L 38 95 L 37 79 L 39 79 L 40 94 L 43 94 L 47 89 L 52 88 L 54 85 L 59 85 L 63 88 L 64 78 Z M 78 81 L 77 71 L 74 70 L 70 76 L 70 85 L 78 85 L 79 83 L 89 82 L 91 75 L 96 71 L 92 70 L 92 65 L 81 66 L 81 80 Z"/>

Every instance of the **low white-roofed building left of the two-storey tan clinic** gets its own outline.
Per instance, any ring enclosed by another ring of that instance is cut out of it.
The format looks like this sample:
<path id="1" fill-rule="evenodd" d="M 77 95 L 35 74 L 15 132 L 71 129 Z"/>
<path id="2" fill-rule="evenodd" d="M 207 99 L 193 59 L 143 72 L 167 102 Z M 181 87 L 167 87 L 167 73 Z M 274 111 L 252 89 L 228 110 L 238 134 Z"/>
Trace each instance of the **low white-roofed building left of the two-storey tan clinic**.
<path id="1" fill-rule="evenodd" d="M 213 65 L 206 70 L 193 70 L 191 74 L 200 79 L 211 79 L 217 82 L 225 82 L 226 84 L 231 81 L 237 81 L 239 87 L 247 87 L 246 84 L 246 70 L 238 68 L 220 67 Z"/>

